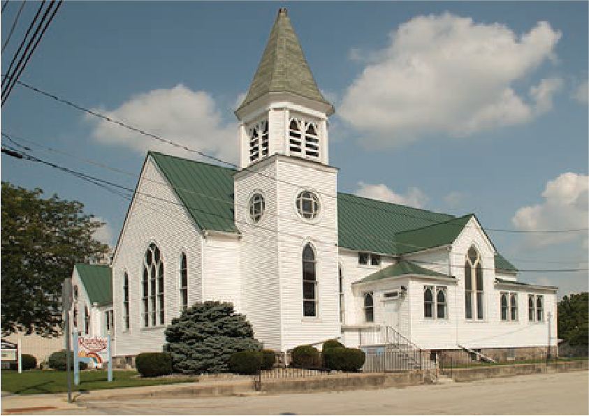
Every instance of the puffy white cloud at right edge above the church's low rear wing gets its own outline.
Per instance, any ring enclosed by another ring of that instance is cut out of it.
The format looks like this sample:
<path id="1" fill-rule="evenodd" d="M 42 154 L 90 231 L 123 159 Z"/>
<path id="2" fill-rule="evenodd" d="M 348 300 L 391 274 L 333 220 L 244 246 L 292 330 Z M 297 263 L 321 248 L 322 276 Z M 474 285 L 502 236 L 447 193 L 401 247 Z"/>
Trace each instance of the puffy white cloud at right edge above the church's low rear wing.
<path id="1" fill-rule="evenodd" d="M 548 181 L 541 196 L 544 202 L 516 211 L 512 221 L 518 230 L 577 230 L 588 227 L 589 177 L 586 174 L 567 172 Z M 562 233 L 535 233 L 528 236 L 530 246 L 547 246 L 579 240 L 587 246 L 587 231 Z"/>

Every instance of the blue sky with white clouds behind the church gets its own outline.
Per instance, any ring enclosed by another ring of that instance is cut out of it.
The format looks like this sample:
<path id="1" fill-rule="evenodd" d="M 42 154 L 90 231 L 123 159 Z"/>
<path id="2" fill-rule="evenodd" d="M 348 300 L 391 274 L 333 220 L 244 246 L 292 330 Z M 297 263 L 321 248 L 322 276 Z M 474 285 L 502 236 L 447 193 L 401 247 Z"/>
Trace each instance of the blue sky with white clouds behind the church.
<path id="1" fill-rule="evenodd" d="M 235 162 L 233 110 L 286 7 L 335 105 L 329 157 L 340 191 L 474 212 L 520 269 L 587 269 L 586 230 L 537 231 L 588 227 L 588 4 L 65 1 L 20 80 Z M 2 73 L 37 6 L 25 4 Z M 2 43 L 19 7 L 10 1 L 1 16 Z M 194 157 L 24 87 L 1 115 L 3 133 L 31 140 L 19 142 L 29 154 L 129 188 L 147 149 Z M 107 222 L 100 237 L 116 241 L 123 198 L 5 155 L 1 176 L 84 202 Z M 588 290 L 587 276 L 523 272 L 521 280 L 565 295 Z"/>

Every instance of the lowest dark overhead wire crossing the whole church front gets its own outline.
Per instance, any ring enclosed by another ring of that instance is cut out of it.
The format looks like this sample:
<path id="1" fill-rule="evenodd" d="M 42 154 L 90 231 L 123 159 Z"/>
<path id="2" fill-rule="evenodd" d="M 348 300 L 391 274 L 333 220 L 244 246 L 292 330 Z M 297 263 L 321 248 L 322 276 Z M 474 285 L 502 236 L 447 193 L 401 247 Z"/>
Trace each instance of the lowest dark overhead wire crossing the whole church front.
<path id="1" fill-rule="evenodd" d="M 10 149 L 9 147 L 6 147 L 6 146 L 3 147 L 3 149 L 2 149 L 3 153 L 9 154 L 10 156 L 13 156 L 13 157 L 19 157 L 19 156 L 15 156 L 14 154 L 8 153 L 5 150 L 5 148 L 7 148 L 9 151 L 11 151 L 13 153 L 20 154 L 20 156 L 22 156 L 22 158 L 24 158 L 24 159 L 27 159 L 29 161 L 38 162 L 38 163 L 43 163 L 45 165 L 49 165 L 52 168 L 59 169 L 59 170 L 61 170 L 63 172 L 66 172 L 68 174 L 73 174 L 74 176 L 79 177 L 80 179 L 89 181 L 92 184 L 96 184 L 97 186 L 101 186 L 101 187 L 112 186 L 112 187 L 118 188 L 120 190 L 127 191 L 127 192 L 129 192 L 129 195 L 124 195 L 124 194 L 122 194 L 120 192 L 118 193 L 118 195 L 119 196 L 122 196 L 122 198 L 125 198 L 125 199 L 128 199 L 128 200 L 130 200 L 131 199 L 131 195 L 134 194 L 134 195 L 145 196 L 145 197 L 151 198 L 153 200 L 157 200 L 157 201 L 161 201 L 161 202 L 166 202 L 166 203 L 173 204 L 173 205 L 179 205 L 181 207 L 187 207 L 186 205 L 182 204 L 182 202 L 170 201 L 170 200 L 167 200 L 166 198 L 161 198 L 161 197 L 156 196 L 156 195 L 151 195 L 149 193 L 144 193 L 144 192 L 140 192 L 138 190 L 133 190 L 133 189 L 131 189 L 129 187 L 122 186 L 122 185 L 119 185 L 119 184 L 115 184 L 115 183 L 113 183 L 111 181 L 106 181 L 104 179 L 99 179 L 99 178 L 96 178 L 96 177 L 92 177 L 91 175 L 84 174 L 82 172 L 77 172 L 77 171 L 71 170 L 69 168 L 64 168 L 64 167 L 62 167 L 60 165 L 57 165 L 55 163 L 51 163 L 51 162 L 48 162 L 48 161 L 43 161 L 41 158 L 36 158 L 35 156 L 24 154 L 22 151 L 17 151 L 16 149 Z M 203 209 L 198 209 L 196 207 L 189 207 L 188 206 L 187 208 L 189 208 L 191 210 L 195 210 L 195 211 L 201 211 L 201 212 L 203 212 L 205 214 L 209 214 L 209 215 L 212 215 L 212 216 L 217 216 L 219 218 L 224 218 L 224 219 L 227 219 L 227 220 L 235 221 L 235 223 L 238 223 L 238 224 L 244 222 L 244 221 L 235 220 L 235 218 L 233 218 L 233 217 L 229 218 L 229 217 L 226 217 L 226 216 L 221 216 L 221 215 L 219 215 L 216 212 L 208 212 L 208 211 L 204 211 Z M 256 228 L 259 228 L 261 230 L 268 230 L 268 231 L 272 232 L 275 235 L 287 235 L 289 237 L 296 237 L 296 238 L 299 238 L 299 239 L 306 238 L 305 236 L 302 236 L 302 235 L 296 235 L 296 234 L 292 234 L 292 233 L 289 233 L 289 232 L 278 231 L 278 230 L 275 230 L 273 228 L 263 227 L 261 225 L 256 225 Z M 313 239 L 313 242 L 315 242 L 315 243 L 321 243 L 321 244 L 328 244 L 329 246 L 337 245 L 337 242 L 335 242 L 335 243 L 334 242 L 326 242 L 326 241 L 323 241 L 323 240 L 320 240 L 320 239 Z M 416 246 L 416 247 L 419 247 L 419 246 Z M 426 265 L 444 266 L 444 267 L 447 267 L 448 266 L 448 265 L 442 264 L 442 263 L 425 262 L 423 260 L 413 260 L 413 259 L 407 259 L 407 260 L 412 261 L 412 262 L 416 262 L 416 263 L 423 263 L 423 264 L 426 264 Z M 463 268 L 465 266 L 455 265 L 454 267 Z M 495 270 L 495 267 L 493 267 L 493 268 L 483 267 L 483 269 L 486 269 L 486 270 Z M 579 269 L 518 269 L 518 272 L 543 272 L 543 273 L 547 273 L 547 272 L 581 272 L 581 271 L 586 271 L 586 270 L 588 270 L 588 269 L 580 269 L 580 268 Z"/>

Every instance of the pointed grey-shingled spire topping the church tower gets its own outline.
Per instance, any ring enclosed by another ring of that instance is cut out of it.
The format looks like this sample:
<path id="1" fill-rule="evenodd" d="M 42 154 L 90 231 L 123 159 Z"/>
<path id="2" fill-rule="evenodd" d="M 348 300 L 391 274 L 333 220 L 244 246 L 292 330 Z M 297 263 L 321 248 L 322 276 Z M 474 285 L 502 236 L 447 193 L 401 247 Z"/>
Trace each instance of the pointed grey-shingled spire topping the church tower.
<path id="1" fill-rule="evenodd" d="M 236 112 L 269 92 L 289 92 L 319 101 L 329 105 L 328 115 L 333 114 L 333 105 L 323 98 L 317 87 L 317 82 L 300 48 L 289 17 L 286 15 L 286 8 L 278 10 L 278 16 L 268 36 L 254 80 L 249 86 L 245 100 Z"/>

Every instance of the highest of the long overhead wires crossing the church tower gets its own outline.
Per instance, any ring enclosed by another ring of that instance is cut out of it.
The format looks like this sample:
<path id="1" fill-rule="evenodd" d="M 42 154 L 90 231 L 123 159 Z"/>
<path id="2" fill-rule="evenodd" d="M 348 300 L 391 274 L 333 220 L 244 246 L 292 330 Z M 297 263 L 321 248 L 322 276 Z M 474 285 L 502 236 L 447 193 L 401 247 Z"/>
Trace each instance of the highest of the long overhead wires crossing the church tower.
<path id="1" fill-rule="evenodd" d="M 145 135 L 145 136 L 147 136 L 149 138 L 152 138 L 154 140 L 158 140 L 160 142 L 163 142 L 163 143 L 166 143 L 166 144 L 170 144 L 171 146 L 174 146 L 174 147 L 177 147 L 177 148 L 180 148 L 180 149 L 184 149 L 185 151 L 189 151 L 191 153 L 198 154 L 199 156 L 203 156 L 204 158 L 208 158 L 210 160 L 217 161 L 219 163 L 223 163 L 224 165 L 229 165 L 232 168 L 235 168 L 235 169 L 238 169 L 239 170 L 238 165 L 235 165 L 235 163 L 224 161 L 224 160 L 222 160 L 220 158 L 217 158 L 215 156 L 210 156 L 208 154 L 205 154 L 202 151 L 190 149 L 189 147 L 185 146 L 184 144 L 178 144 L 176 142 L 173 142 L 172 140 L 161 138 L 158 135 L 155 135 L 153 133 L 148 133 L 146 131 L 141 130 L 140 128 L 136 128 L 136 127 L 130 126 L 129 124 L 124 123 L 123 121 L 112 119 L 112 117 L 108 117 L 108 116 L 106 116 L 104 114 L 100 114 L 99 112 L 96 112 L 94 110 L 89 110 L 89 109 L 87 109 L 85 107 L 81 107 L 80 105 L 77 105 L 75 103 L 72 103 L 71 101 L 65 100 L 64 98 L 59 98 L 58 96 L 56 96 L 54 94 L 48 93 L 46 91 L 42 91 L 41 89 L 38 89 L 36 87 L 32 87 L 31 85 L 26 84 L 25 82 L 17 81 L 17 84 L 22 85 L 22 87 L 31 89 L 32 91 L 36 91 L 39 94 L 42 94 L 43 96 L 47 96 L 49 98 L 52 98 L 55 101 L 58 101 L 60 103 L 64 103 L 64 104 L 69 105 L 71 107 L 74 107 L 77 110 L 80 110 L 82 112 L 86 112 L 87 114 L 91 114 L 94 117 L 99 117 L 101 119 L 104 119 L 106 121 L 109 121 L 110 123 L 117 124 L 118 126 L 122 126 L 122 127 L 127 128 L 127 129 L 129 129 L 131 131 L 135 131 L 136 133 L 140 133 L 141 135 Z M 297 186 L 297 187 L 299 186 L 298 184 L 293 184 L 293 183 L 291 183 L 289 181 L 286 181 L 284 179 L 277 179 L 276 177 L 272 177 L 271 175 L 265 174 L 263 172 L 256 172 L 256 171 L 252 170 L 251 166 L 250 167 L 247 167 L 247 168 L 243 168 L 240 171 L 242 171 L 242 172 L 243 171 L 250 171 L 253 174 L 258 174 L 261 177 L 266 177 L 266 178 L 268 178 L 270 180 L 273 180 L 273 181 L 278 181 L 278 182 L 281 182 L 281 183 L 284 183 L 284 184 L 289 184 L 291 186 Z M 337 199 L 337 195 L 331 195 L 329 193 L 323 193 L 323 192 L 320 192 L 320 191 L 317 191 L 317 193 L 319 195 L 324 195 L 327 198 Z M 361 197 L 358 197 L 358 198 L 361 198 Z M 356 205 L 362 205 L 362 206 L 368 207 L 370 209 L 376 209 L 374 206 L 369 205 L 367 203 L 363 203 L 360 200 L 355 200 L 352 203 L 354 203 Z M 384 208 L 378 208 L 378 210 L 379 211 L 384 211 L 384 212 L 391 212 L 391 211 L 388 211 L 388 209 L 384 209 Z M 423 211 L 425 211 L 425 210 L 423 210 Z M 439 223 L 443 223 L 444 222 L 444 221 L 436 221 L 436 220 L 434 220 L 432 218 L 427 218 L 427 217 L 424 217 L 424 216 L 409 214 L 407 212 L 394 212 L 393 214 L 407 216 L 407 217 L 410 217 L 410 218 L 417 218 L 417 219 L 420 219 L 420 220 L 423 220 L 423 221 L 429 221 L 429 222 L 432 223 L 431 225 L 436 225 L 436 224 L 439 224 Z M 456 217 L 449 216 L 449 218 L 446 221 L 451 221 L 454 218 L 456 218 Z M 451 224 L 449 224 L 449 225 L 451 225 Z M 458 226 L 458 225 L 456 225 L 456 226 Z M 494 232 L 532 233 L 532 234 L 582 232 L 582 231 L 589 230 L 589 228 L 574 228 L 574 229 L 567 229 L 567 230 L 511 230 L 511 229 L 508 230 L 508 229 L 502 229 L 502 228 L 484 228 L 484 227 L 481 227 L 481 228 L 483 230 L 486 230 L 486 231 L 494 231 Z"/>

